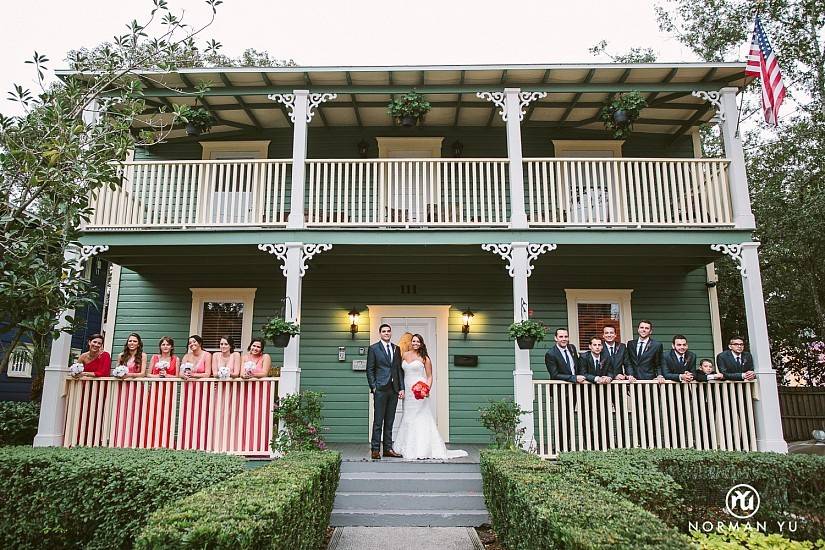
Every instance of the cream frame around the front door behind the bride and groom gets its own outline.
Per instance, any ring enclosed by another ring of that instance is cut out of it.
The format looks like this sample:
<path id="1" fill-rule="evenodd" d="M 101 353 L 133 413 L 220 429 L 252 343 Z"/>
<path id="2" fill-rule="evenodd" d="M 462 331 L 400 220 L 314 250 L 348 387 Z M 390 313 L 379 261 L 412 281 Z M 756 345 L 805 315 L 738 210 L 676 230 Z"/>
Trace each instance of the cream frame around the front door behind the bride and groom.
<path id="1" fill-rule="evenodd" d="M 433 359 L 434 367 L 438 368 L 438 385 L 435 388 L 438 400 L 437 418 L 438 432 L 445 442 L 450 437 L 450 365 L 448 363 L 449 352 L 449 320 L 450 306 L 443 305 L 367 305 L 370 316 L 370 343 L 373 335 L 378 334 L 378 327 L 381 326 L 381 319 L 384 317 L 434 317 L 436 357 Z M 406 396 L 405 396 L 406 398 Z"/>

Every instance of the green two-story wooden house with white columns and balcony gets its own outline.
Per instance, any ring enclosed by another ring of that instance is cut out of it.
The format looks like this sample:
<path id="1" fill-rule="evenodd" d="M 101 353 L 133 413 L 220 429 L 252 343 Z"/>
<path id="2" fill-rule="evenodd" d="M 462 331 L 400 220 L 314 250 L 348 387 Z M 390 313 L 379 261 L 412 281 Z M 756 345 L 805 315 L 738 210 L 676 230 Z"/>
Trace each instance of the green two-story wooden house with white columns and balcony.
<path id="1" fill-rule="evenodd" d="M 510 323 L 530 313 L 569 327 L 584 350 L 607 321 L 627 341 L 650 319 L 666 350 L 681 333 L 714 357 L 727 343 L 713 262 L 726 254 L 742 272 L 758 371 L 758 387 L 731 394 L 747 417 L 744 446 L 731 448 L 786 449 L 736 135 L 743 63 L 209 68 L 142 79 L 147 118 L 192 105 L 206 85 L 199 103 L 216 123 L 199 136 L 175 127 L 134 151 L 123 186 L 93 198 L 84 253 L 115 265 L 109 349 L 130 332 L 148 351 L 164 335 L 182 350 L 193 333 L 214 348 L 224 332 L 245 348 L 283 312 L 302 332 L 266 350 L 278 393 L 324 392 L 327 439 L 366 442 L 364 350 L 389 322 L 394 339 L 427 341 L 448 441 L 487 442 L 479 407 L 512 397 L 533 411 L 529 445 L 552 431 L 542 418 L 553 392 L 567 390 L 542 386 L 547 343 L 520 350 Z M 413 90 L 432 110 L 398 125 L 387 104 Z M 647 107 L 613 139 L 601 109 L 631 91 Z M 721 125 L 724 158 L 702 158 L 708 123 Z M 38 444 L 64 441 L 60 363 L 58 350 Z"/>

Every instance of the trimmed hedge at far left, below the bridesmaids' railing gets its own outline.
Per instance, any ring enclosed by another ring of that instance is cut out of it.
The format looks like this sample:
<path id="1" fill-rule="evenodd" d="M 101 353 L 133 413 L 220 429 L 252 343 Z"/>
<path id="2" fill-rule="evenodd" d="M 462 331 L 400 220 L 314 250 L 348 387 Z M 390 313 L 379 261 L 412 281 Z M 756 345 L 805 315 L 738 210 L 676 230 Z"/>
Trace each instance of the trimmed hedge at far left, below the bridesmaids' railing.
<path id="1" fill-rule="evenodd" d="M 0 548 L 130 548 L 149 512 L 243 470 L 210 453 L 0 448 Z"/>

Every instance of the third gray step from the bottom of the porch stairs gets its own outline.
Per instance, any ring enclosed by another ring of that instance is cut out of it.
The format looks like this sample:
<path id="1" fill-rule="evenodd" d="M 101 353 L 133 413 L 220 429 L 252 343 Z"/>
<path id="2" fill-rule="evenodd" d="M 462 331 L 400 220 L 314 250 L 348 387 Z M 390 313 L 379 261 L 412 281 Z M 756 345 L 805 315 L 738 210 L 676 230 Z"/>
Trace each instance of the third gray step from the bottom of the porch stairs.
<path id="1" fill-rule="evenodd" d="M 457 493 L 482 491 L 481 474 L 469 472 L 348 472 L 342 473 L 343 493 Z"/>

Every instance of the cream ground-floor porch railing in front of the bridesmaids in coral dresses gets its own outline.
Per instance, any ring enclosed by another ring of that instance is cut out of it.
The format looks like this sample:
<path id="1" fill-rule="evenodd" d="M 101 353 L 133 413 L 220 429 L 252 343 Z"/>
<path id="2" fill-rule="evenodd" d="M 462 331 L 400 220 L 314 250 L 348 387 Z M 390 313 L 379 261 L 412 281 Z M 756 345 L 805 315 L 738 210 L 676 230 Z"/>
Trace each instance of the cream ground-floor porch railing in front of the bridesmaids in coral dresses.
<path id="1" fill-rule="evenodd" d="M 278 378 L 66 380 L 65 447 L 270 456 Z"/>

